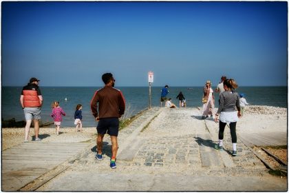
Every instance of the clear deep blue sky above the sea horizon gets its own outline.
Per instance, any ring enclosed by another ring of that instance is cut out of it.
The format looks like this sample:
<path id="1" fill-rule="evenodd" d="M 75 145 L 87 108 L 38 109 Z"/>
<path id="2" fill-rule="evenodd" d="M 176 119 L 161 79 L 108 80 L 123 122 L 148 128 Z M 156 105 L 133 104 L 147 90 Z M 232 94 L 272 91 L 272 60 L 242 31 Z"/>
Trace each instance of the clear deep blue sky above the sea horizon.
<path id="1" fill-rule="evenodd" d="M 287 85 L 286 1 L 3 2 L 2 85 Z"/>

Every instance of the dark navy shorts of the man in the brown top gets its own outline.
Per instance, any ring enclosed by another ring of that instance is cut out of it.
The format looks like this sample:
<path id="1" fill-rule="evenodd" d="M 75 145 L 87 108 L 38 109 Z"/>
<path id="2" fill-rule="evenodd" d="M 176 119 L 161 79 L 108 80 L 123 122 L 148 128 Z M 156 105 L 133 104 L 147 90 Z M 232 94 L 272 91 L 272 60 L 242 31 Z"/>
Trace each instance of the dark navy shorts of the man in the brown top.
<path id="1" fill-rule="evenodd" d="M 103 118 L 99 119 L 96 130 L 98 134 L 107 132 L 110 136 L 118 136 L 118 126 L 118 118 Z"/>

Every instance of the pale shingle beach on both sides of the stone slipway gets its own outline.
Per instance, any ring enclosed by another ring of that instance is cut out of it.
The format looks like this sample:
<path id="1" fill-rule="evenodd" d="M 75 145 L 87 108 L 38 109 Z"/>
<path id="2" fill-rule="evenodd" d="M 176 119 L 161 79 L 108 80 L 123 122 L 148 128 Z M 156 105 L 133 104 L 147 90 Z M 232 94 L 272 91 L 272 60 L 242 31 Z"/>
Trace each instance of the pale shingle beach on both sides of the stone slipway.
<path id="1" fill-rule="evenodd" d="M 215 112 L 216 112 L 215 108 Z M 286 132 L 287 109 L 266 105 L 249 105 L 246 107 L 244 116 L 239 119 L 238 125 L 242 130 L 238 133 L 258 132 Z M 19 145 L 24 141 L 24 128 L 2 128 L 2 150 Z M 30 128 L 30 141 L 34 136 L 34 128 Z M 61 128 L 60 135 L 56 135 L 54 128 L 40 128 L 39 136 L 43 141 L 83 141 L 96 136 L 96 127 L 83 128 L 83 132 L 75 132 L 75 128 Z"/>

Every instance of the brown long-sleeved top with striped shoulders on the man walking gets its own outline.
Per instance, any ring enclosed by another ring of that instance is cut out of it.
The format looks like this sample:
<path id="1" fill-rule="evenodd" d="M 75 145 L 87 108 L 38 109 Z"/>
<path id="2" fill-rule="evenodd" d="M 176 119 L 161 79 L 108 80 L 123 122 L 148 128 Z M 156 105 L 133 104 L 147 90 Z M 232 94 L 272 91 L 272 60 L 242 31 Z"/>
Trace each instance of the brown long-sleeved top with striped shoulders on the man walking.
<path id="1" fill-rule="evenodd" d="M 120 90 L 105 85 L 94 93 L 90 108 L 94 117 L 99 116 L 99 119 L 120 117 L 125 113 L 125 98 Z"/>

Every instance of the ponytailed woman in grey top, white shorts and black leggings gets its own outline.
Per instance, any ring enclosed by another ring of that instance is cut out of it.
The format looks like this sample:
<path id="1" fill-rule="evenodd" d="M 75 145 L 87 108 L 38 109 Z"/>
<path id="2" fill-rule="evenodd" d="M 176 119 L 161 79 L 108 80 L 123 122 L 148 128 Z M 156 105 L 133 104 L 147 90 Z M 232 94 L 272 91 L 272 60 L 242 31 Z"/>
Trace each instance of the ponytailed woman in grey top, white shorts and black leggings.
<path id="1" fill-rule="evenodd" d="M 237 156 L 237 134 L 236 125 L 241 116 L 241 109 L 239 103 L 239 95 L 234 90 L 238 87 L 234 79 L 226 79 L 224 81 L 225 91 L 220 95 L 220 106 L 215 114 L 215 122 L 217 123 L 220 114 L 219 123 L 219 143 L 215 145 L 215 149 L 223 150 L 224 130 L 226 124 L 230 125 L 231 138 L 233 143 L 233 156 Z M 236 111 L 236 108 L 238 112 Z"/>

